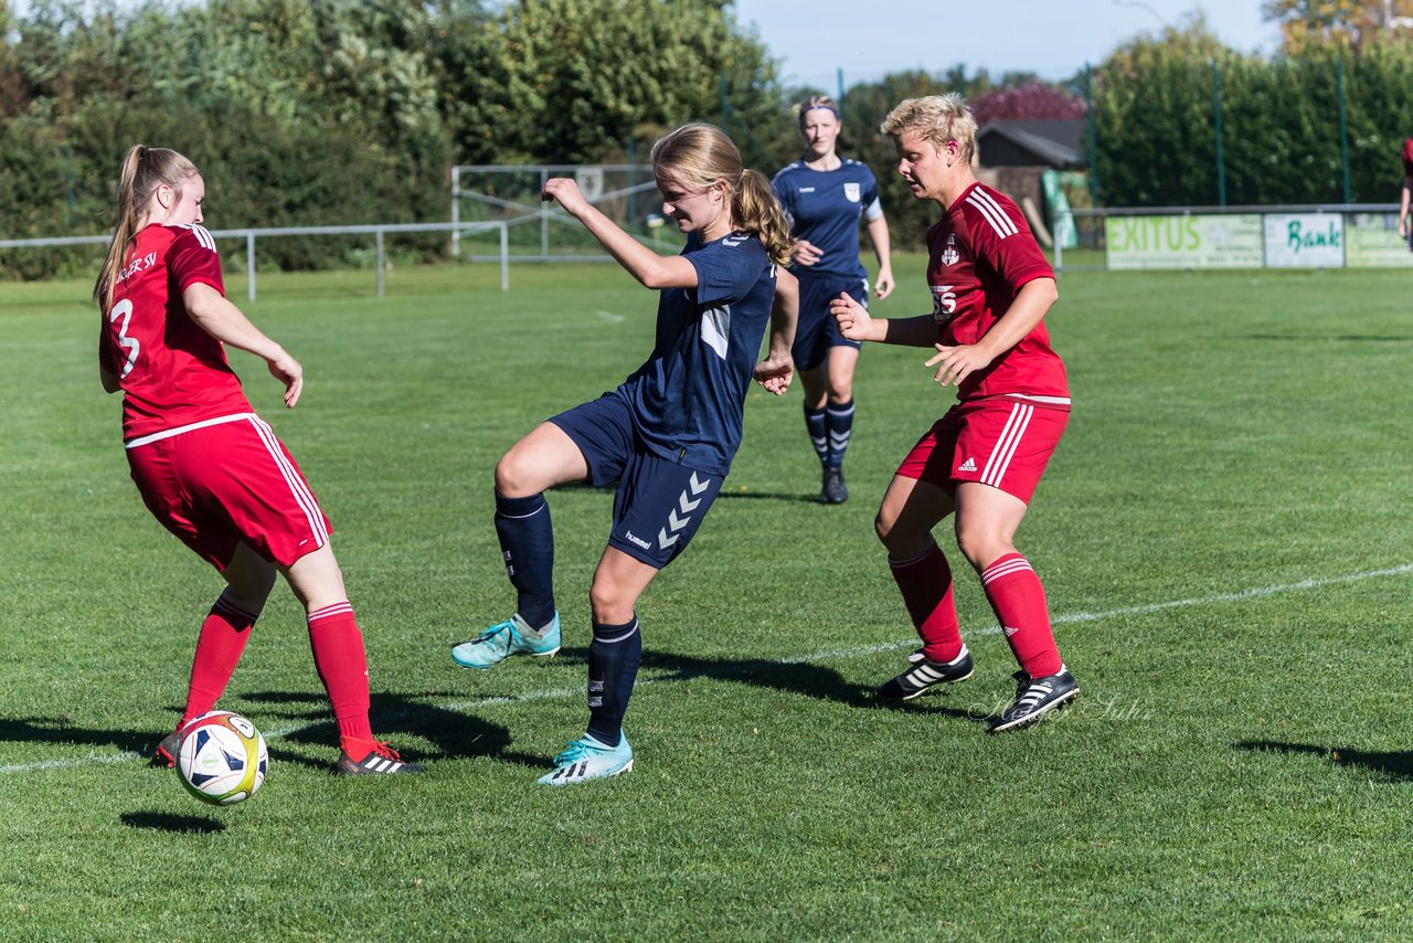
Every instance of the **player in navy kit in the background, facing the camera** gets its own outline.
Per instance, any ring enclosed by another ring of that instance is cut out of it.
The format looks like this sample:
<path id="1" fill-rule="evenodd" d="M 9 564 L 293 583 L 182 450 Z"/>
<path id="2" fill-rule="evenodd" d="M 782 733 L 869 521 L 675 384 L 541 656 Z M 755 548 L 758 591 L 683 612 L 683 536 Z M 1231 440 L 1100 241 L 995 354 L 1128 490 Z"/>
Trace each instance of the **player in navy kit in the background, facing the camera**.
<path id="1" fill-rule="evenodd" d="M 801 102 L 804 153 L 770 184 L 796 238 L 790 270 L 800 279 L 800 325 L 791 353 L 804 383 L 804 426 L 820 458 L 820 500 L 827 505 L 849 499 L 844 452 L 853 433 L 859 344 L 839 334 L 829 317 L 829 300 L 844 293 L 868 304 L 869 279 L 859 262 L 859 216 L 868 221 L 879 260 L 875 295 L 886 298 L 893 291 L 887 219 L 877 182 L 866 165 L 835 153 L 841 129 L 839 110 L 829 98 L 815 95 Z"/>

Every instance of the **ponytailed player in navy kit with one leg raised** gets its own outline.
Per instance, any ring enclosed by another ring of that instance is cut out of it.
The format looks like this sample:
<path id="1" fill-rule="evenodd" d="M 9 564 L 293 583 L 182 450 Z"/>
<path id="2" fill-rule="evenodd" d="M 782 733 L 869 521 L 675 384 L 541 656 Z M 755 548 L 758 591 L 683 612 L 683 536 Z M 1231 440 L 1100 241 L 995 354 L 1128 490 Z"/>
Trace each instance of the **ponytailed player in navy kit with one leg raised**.
<path id="1" fill-rule="evenodd" d="M 489 669 L 509 655 L 554 655 L 554 533 L 544 492 L 567 482 L 617 482 L 608 546 L 589 588 L 589 722 L 554 758 L 541 785 L 564 786 L 633 768 L 623 735 L 643 655 L 637 598 L 677 558 L 706 516 L 740 444 L 752 376 L 784 394 L 798 284 L 783 267 L 790 232 L 766 180 L 711 124 L 685 124 L 651 151 L 663 215 L 687 245 L 658 256 L 601 213 L 574 180 L 541 198 L 585 225 L 620 266 L 658 290 L 657 336 L 647 361 L 617 389 L 541 423 L 496 465 L 496 534 L 519 594 L 514 616 L 452 649 Z M 770 346 L 756 355 L 770 327 Z"/>

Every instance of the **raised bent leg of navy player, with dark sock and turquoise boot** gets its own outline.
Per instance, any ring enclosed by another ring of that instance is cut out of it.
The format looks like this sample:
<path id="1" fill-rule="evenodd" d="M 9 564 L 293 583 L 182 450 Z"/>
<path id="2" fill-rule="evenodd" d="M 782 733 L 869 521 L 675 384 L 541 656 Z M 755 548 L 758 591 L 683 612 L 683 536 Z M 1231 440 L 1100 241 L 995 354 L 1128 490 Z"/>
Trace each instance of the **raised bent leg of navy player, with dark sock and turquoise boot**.
<path id="1" fill-rule="evenodd" d="M 554 602 L 554 529 L 544 492 L 588 478 L 584 452 L 554 423 L 541 423 L 496 464 L 496 537 L 506 575 L 516 588 L 516 612 L 451 657 L 462 667 L 489 669 L 512 655 L 550 656 L 560 650 Z"/>

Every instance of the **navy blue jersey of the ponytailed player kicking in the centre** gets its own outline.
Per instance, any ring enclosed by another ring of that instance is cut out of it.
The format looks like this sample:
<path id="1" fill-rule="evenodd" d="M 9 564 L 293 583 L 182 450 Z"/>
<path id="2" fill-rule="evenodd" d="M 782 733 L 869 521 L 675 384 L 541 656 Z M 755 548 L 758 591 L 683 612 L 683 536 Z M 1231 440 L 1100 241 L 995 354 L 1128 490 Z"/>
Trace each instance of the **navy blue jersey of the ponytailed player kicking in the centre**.
<path id="1" fill-rule="evenodd" d="M 647 447 L 661 458 L 725 475 L 740 445 L 760 342 L 770 324 L 776 267 L 760 240 L 733 232 L 706 245 L 687 238 L 695 288 L 664 288 L 657 341 L 619 392 Z"/>

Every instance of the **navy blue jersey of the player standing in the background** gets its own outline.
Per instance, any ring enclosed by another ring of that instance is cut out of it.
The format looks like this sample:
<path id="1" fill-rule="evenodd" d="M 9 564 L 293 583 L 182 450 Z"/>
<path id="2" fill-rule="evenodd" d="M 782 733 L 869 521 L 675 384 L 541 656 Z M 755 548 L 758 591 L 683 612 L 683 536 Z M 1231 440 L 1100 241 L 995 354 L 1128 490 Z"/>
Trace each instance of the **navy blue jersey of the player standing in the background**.
<path id="1" fill-rule="evenodd" d="M 873 171 L 849 158 L 835 170 L 810 170 L 797 160 L 776 174 L 770 187 L 784 206 L 794 238 L 824 253 L 812 266 L 791 266 L 793 273 L 803 279 L 815 274 L 868 279 L 859 262 L 859 216 L 873 221 L 883 215 Z"/>

